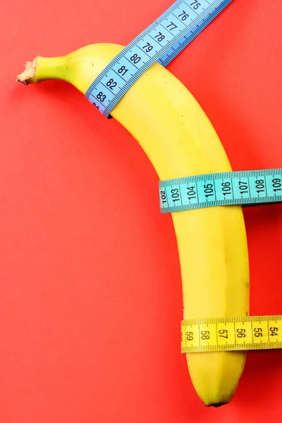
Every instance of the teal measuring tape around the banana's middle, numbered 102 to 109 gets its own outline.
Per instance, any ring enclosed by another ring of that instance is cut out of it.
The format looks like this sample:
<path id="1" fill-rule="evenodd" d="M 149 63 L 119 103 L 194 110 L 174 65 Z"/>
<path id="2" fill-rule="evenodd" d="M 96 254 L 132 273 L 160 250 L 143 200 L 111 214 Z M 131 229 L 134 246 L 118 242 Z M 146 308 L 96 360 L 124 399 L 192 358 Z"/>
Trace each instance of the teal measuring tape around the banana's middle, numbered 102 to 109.
<path id="1" fill-rule="evenodd" d="M 269 204 L 282 201 L 282 168 L 207 173 L 161 180 L 162 213 L 203 207 Z"/>

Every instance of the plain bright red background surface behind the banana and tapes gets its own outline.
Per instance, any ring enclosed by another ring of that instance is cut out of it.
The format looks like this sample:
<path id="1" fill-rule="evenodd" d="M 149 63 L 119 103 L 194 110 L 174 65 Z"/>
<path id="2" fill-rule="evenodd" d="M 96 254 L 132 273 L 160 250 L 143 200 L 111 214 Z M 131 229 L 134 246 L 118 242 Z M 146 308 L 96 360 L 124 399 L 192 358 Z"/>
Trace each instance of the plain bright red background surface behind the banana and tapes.
<path id="1" fill-rule="evenodd" d="M 207 408 L 180 354 L 171 216 L 137 142 L 71 85 L 16 83 L 23 63 L 127 44 L 171 1 L 11 0 L 0 16 L 1 423 L 282 419 L 282 352 L 247 355 Z M 168 66 L 234 170 L 280 167 L 281 1 L 234 0 Z M 110 196 L 107 195 L 110 192 Z M 244 209 L 251 314 L 282 314 L 281 204 Z"/>

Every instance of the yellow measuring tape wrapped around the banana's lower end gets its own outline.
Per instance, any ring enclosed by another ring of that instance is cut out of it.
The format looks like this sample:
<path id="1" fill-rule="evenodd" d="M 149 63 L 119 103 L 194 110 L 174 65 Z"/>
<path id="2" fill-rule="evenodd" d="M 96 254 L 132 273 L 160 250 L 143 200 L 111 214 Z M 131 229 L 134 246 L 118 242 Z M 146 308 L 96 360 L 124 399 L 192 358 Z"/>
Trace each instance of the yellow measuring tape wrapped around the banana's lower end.
<path id="1" fill-rule="evenodd" d="M 181 321 L 181 353 L 282 348 L 282 315 Z"/>

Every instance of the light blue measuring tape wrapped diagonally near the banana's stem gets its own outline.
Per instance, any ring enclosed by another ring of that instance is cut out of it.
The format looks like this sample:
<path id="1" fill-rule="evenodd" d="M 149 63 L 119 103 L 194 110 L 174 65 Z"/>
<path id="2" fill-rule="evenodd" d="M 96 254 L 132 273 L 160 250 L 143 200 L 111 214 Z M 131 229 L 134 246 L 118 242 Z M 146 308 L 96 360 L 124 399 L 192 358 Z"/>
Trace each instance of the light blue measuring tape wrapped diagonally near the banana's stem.
<path id="1" fill-rule="evenodd" d="M 92 82 L 85 97 L 109 118 L 154 63 L 167 66 L 233 0 L 177 0 L 137 35 Z"/>

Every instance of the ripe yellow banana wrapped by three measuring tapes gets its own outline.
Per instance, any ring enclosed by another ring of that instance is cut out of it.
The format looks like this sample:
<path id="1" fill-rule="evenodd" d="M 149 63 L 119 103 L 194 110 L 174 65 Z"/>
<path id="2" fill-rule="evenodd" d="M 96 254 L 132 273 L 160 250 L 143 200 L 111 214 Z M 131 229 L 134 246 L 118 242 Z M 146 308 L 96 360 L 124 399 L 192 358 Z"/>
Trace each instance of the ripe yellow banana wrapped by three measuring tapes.
<path id="1" fill-rule="evenodd" d="M 82 94 L 123 46 L 90 44 L 65 56 L 37 56 L 17 80 L 25 85 L 64 80 Z M 111 112 L 139 142 L 161 180 L 231 171 L 226 152 L 200 104 L 155 63 Z M 183 288 L 183 319 L 245 316 L 249 259 L 242 207 L 172 213 Z M 246 352 L 186 354 L 190 379 L 207 405 L 233 398 Z"/>

